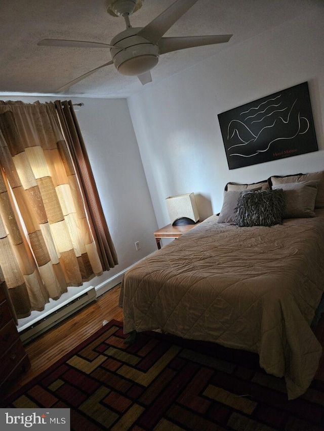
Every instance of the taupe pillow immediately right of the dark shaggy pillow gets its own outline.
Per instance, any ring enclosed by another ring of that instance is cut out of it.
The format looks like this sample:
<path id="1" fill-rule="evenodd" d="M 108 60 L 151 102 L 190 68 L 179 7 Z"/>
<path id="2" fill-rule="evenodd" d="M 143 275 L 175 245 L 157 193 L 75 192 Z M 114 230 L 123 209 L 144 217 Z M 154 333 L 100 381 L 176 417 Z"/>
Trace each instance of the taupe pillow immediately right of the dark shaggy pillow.
<path id="1" fill-rule="evenodd" d="M 314 213 L 318 181 L 286 182 L 272 189 L 284 190 L 286 209 L 284 218 L 316 217 Z"/>

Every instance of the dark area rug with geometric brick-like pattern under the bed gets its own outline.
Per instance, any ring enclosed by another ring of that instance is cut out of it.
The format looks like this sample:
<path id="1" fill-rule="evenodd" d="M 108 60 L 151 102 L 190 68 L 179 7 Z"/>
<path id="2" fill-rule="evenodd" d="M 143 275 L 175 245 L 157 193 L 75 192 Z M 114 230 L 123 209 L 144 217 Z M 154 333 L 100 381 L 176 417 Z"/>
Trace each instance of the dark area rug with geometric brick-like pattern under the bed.
<path id="1" fill-rule="evenodd" d="M 153 331 L 124 340 L 110 321 L 4 406 L 70 408 L 75 431 L 324 429 L 324 379 L 288 401 L 255 354 Z"/>

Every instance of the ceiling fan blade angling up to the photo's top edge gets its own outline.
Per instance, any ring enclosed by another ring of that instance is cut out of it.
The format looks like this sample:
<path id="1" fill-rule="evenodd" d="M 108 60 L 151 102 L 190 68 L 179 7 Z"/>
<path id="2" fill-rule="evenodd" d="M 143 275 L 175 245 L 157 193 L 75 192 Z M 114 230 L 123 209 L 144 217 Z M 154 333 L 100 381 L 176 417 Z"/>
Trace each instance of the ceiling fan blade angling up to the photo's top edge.
<path id="1" fill-rule="evenodd" d="M 152 43 L 157 43 L 169 28 L 197 1 L 198 0 L 177 0 L 137 34 L 145 37 L 145 39 L 148 39 Z"/>

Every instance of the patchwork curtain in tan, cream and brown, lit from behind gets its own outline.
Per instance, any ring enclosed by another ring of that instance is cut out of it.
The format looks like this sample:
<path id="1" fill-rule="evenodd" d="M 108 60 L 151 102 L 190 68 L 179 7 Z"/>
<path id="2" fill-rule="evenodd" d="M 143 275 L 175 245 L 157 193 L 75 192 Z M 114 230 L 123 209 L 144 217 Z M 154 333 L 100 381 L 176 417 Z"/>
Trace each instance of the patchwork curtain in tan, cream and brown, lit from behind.
<path id="1" fill-rule="evenodd" d="M 0 169 L 0 280 L 22 318 L 103 266 L 53 103 L 0 102 Z"/>

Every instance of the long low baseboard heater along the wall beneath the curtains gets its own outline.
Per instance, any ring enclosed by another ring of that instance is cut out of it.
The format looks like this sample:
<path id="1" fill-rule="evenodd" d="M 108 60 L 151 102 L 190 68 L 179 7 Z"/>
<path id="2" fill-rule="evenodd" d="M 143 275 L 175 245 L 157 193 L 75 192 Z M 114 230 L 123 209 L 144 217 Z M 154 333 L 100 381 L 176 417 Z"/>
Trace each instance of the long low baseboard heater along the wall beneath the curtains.
<path id="1" fill-rule="evenodd" d="M 70 302 L 61 306 L 57 310 L 52 311 L 46 317 L 42 317 L 40 320 L 36 321 L 35 323 L 32 323 L 26 329 L 22 328 L 22 330 L 20 331 L 18 329 L 22 343 L 26 344 L 33 338 L 38 337 L 43 332 L 47 331 L 57 323 L 66 319 L 79 309 L 83 308 L 85 305 L 94 301 L 96 298 L 96 290 L 95 288 L 92 288 L 84 294 L 81 294 L 80 296 L 72 299 Z"/>

